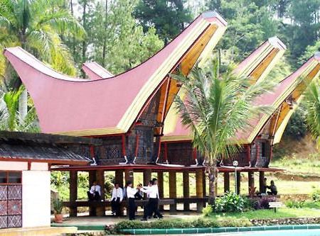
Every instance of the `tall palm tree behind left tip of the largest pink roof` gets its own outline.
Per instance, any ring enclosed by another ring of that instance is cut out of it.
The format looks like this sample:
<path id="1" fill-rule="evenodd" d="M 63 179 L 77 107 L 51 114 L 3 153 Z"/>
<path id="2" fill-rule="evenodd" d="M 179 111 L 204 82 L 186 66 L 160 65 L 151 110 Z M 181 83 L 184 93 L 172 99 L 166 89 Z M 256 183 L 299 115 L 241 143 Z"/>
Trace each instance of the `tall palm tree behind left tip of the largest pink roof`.
<path id="1" fill-rule="evenodd" d="M 85 31 L 67 10 L 60 7 L 61 4 L 62 0 L 1 0 L 0 50 L 19 45 L 51 64 L 54 69 L 75 75 L 72 56 L 62 37 L 73 35 L 83 38 Z M 3 57 L 0 55 L 2 73 L 4 68 L 8 68 Z M 18 89 L 20 79 L 15 84 L 14 89 Z M 26 91 L 20 98 L 21 116 L 26 116 Z"/>

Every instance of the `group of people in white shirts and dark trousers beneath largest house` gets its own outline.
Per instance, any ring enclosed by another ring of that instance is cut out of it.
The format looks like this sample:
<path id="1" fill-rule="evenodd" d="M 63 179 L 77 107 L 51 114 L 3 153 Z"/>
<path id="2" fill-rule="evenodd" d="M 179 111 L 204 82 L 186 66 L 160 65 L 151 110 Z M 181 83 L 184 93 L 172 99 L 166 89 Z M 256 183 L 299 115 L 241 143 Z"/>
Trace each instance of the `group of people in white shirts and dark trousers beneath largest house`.
<path id="1" fill-rule="evenodd" d="M 144 216 L 142 220 L 147 220 L 151 218 L 162 218 L 159 211 L 159 189 L 158 180 L 152 179 L 149 181 L 148 186 L 142 186 L 138 184 L 136 188 L 132 187 L 132 181 L 127 181 L 127 187 L 122 190 L 118 183 L 114 183 L 114 188 L 112 189 L 111 197 L 111 208 L 112 215 L 121 215 L 121 203 L 124 198 L 127 198 L 127 215 L 129 220 L 135 220 L 135 215 L 137 211 L 137 206 L 135 200 L 141 200 L 144 198 L 144 193 L 149 198 L 148 202 L 144 206 Z M 87 196 L 89 201 L 99 201 L 101 199 L 101 187 L 96 181 L 92 183 L 89 191 L 87 191 Z"/>

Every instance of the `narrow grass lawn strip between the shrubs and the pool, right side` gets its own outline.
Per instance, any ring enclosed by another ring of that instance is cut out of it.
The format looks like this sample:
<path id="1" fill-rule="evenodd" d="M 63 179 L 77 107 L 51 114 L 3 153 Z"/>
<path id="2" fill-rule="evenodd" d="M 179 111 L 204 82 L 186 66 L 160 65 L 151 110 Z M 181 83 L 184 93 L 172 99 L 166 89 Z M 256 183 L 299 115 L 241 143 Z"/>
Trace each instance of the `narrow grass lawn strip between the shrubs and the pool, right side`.
<path id="1" fill-rule="evenodd" d="M 228 218 L 238 219 L 247 218 L 252 219 L 275 219 L 275 218 L 307 218 L 307 217 L 320 217 L 320 210 L 310 208 L 279 208 L 277 213 L 274 210 L 251 210 L 244 213 L 213 213 L 211 218 L 217 220 L 226 220 Z"/>

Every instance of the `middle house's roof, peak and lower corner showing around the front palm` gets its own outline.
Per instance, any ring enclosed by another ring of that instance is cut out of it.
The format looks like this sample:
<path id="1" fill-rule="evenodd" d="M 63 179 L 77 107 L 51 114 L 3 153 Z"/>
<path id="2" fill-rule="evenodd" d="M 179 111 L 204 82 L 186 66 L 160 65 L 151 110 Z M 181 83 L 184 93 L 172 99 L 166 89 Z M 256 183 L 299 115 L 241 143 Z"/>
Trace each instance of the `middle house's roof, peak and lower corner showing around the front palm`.
<path id="1" fill-rule="evenodd" d="M 287 47 L 279 38 L 270 38 L 240 62 L 235 68 L 235 73 L 255 80 L 264 79 L 286 49 Z M 183 98 L 182 91 L 179 91 L 179 96 Z M 161 141 L 182 140 L 192 140 L 191 131 L 183 127 L 176 109 L 172 106 L 164 120 L 164 137 L 161 137 Z"/>

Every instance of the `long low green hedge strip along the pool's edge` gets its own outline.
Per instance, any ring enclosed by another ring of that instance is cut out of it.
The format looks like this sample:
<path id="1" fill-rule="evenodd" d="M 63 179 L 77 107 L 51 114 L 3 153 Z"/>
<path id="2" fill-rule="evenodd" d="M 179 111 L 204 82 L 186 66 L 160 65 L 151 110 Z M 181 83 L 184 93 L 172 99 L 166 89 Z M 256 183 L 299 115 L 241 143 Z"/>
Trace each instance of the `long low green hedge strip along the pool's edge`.
<path id="1" fill-rule="evenodd" d="M 210 218 L 198 218 L 196 220 L 164 219 L 150 222 L 139 220 L 123 220 L 114 225 L 114 231 L 120 232 L 124 229 L 172 229 L 172 228 L 191 228 L 191 227 L 249 227 L 252 223 L 247 218 L 228 220 L 217 220 Z"/>

